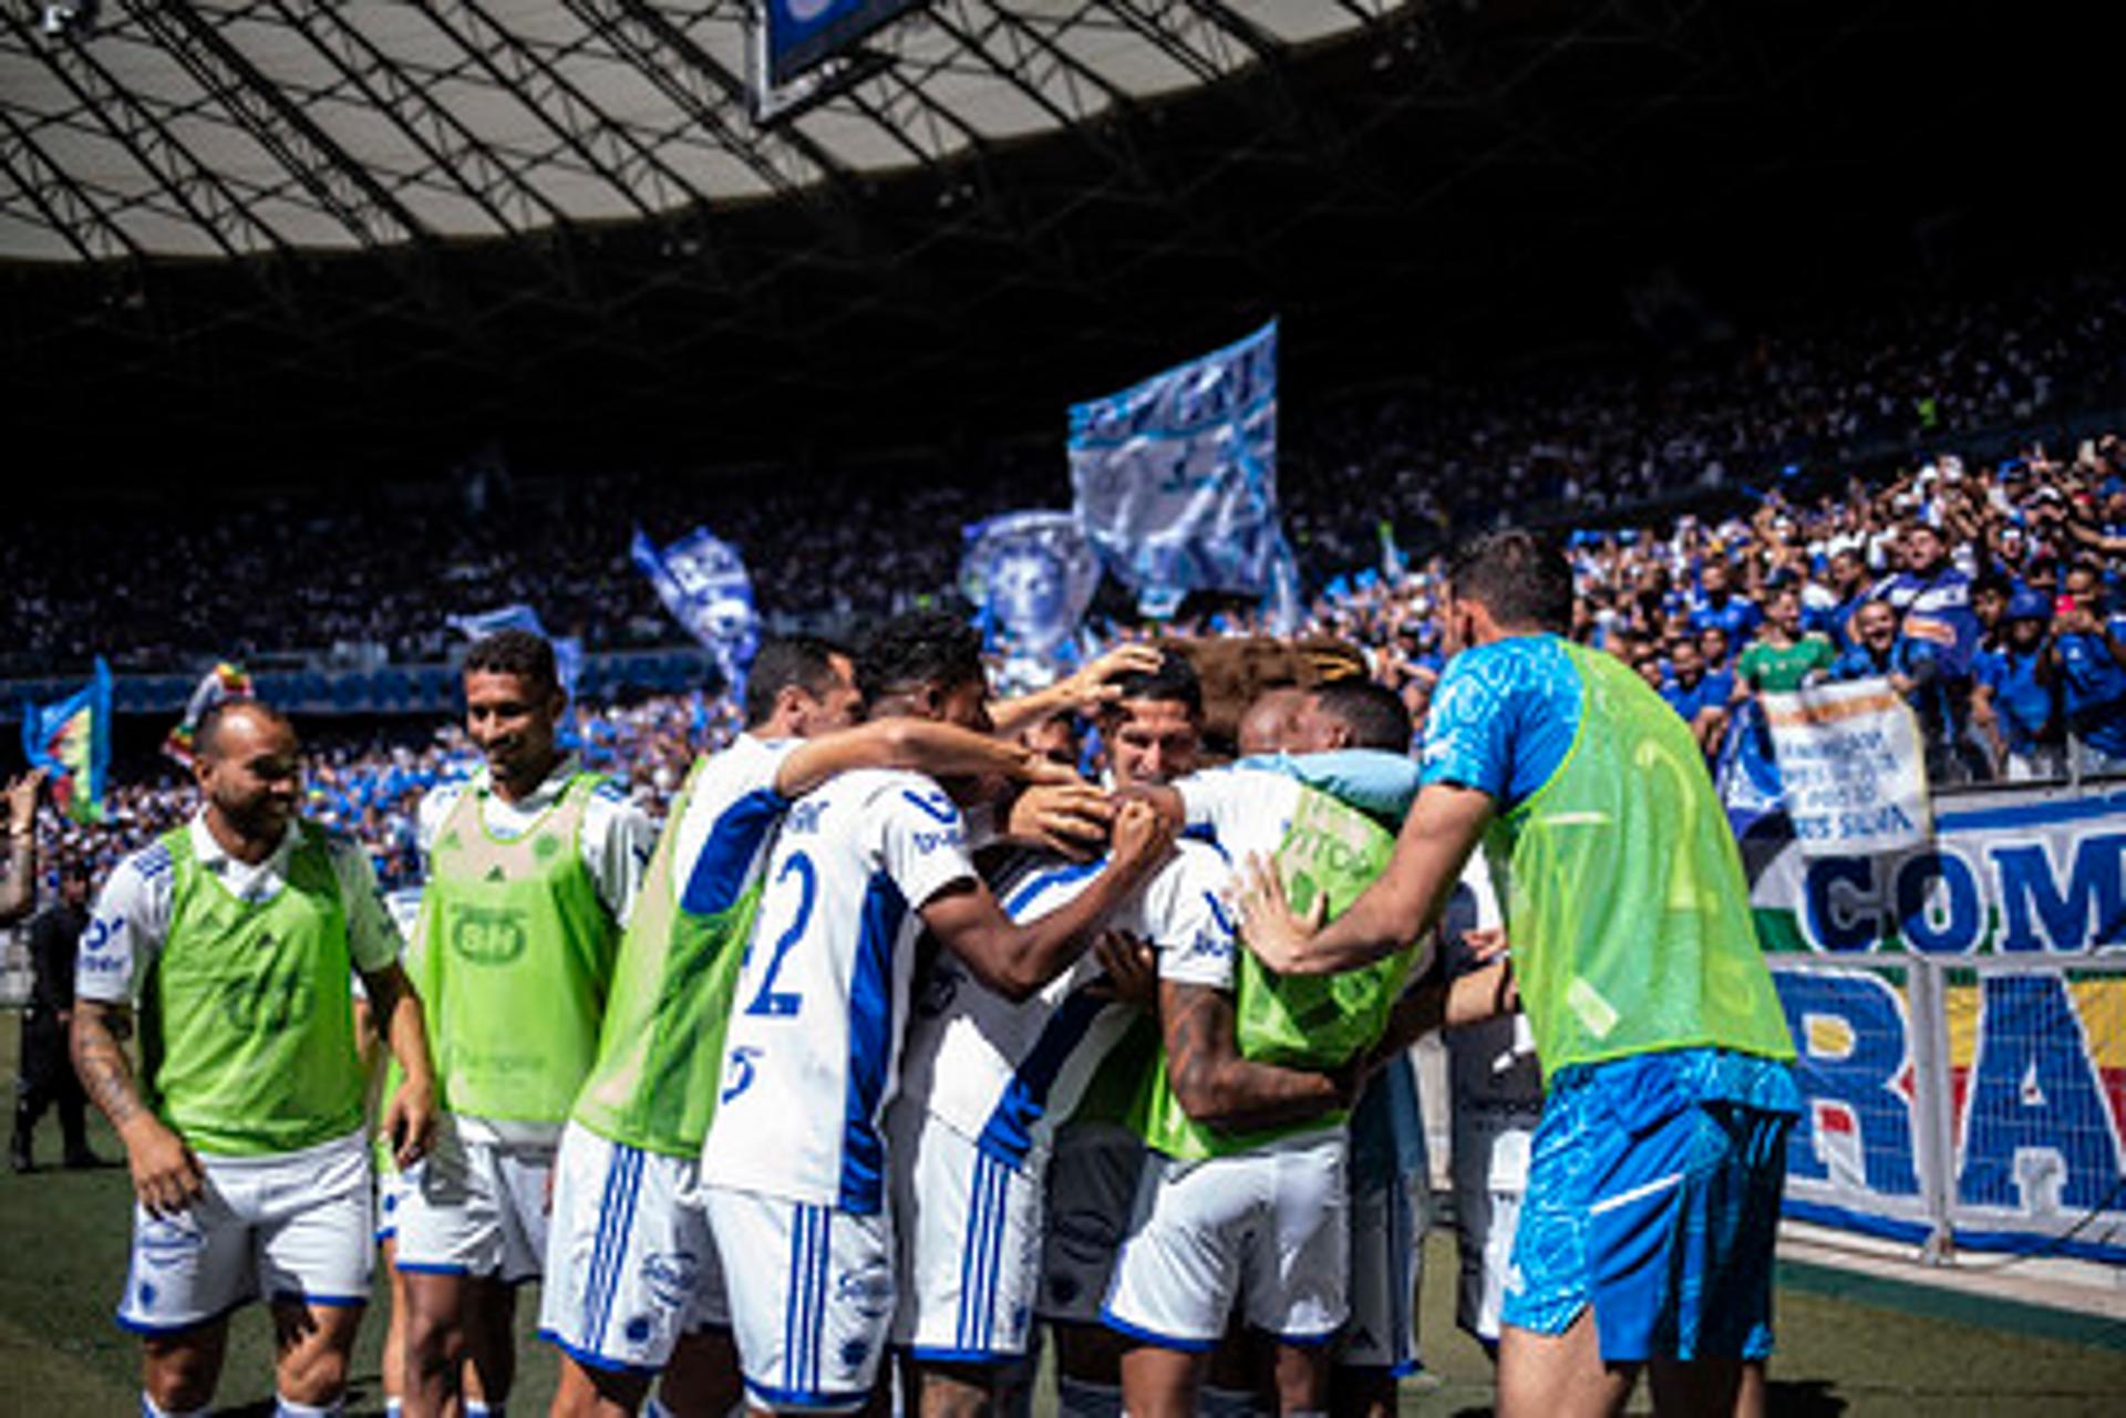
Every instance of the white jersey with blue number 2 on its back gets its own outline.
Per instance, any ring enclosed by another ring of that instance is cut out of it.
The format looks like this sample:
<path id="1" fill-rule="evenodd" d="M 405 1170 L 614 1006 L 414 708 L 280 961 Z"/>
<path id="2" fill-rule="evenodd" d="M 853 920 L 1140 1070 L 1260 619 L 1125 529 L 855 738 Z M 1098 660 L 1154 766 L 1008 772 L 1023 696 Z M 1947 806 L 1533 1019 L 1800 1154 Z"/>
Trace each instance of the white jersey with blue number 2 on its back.
<path id="1" fill-rule="evenodd" d="M 974 878 L 959 808 L 921 774 L 863 770 L 797 799 L 767 855 L 731 997 L 702 1182 L 870 1214 L 925 901 Z"/>

